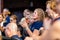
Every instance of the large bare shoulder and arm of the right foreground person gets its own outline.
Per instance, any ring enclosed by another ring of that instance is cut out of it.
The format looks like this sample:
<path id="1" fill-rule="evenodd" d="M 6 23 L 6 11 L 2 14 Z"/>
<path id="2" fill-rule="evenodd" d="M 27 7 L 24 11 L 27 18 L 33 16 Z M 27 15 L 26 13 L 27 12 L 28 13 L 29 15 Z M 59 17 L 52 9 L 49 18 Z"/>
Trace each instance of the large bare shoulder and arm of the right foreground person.
<path id="1" fill-rule="evenodd" d="M 60 40 L 60 20 L 55 21 L 49 30 L 46 30 L 40 40 Z"/>

